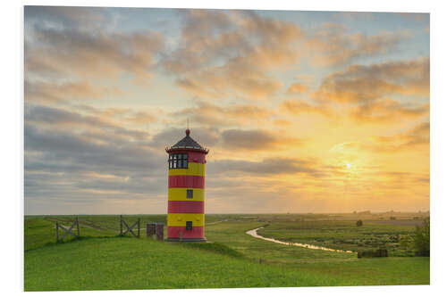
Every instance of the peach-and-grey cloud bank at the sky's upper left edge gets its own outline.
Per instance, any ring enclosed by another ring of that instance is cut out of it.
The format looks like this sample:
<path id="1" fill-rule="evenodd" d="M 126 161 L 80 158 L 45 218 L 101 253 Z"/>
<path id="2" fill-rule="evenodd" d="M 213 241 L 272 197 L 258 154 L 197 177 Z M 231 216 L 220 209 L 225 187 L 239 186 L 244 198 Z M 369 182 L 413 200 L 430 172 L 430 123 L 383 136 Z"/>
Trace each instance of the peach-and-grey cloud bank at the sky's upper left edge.
<path id="1" fill-rule="evenodd" d="M 42 20 L 45 23 L 45 20 Z M 147 81 L 154 56 L 164 47 L 155 31 L 133 33 L 55 29 L 36 24 L 25 41 L 25 75 L 117 78 L 124 73 Z"/>

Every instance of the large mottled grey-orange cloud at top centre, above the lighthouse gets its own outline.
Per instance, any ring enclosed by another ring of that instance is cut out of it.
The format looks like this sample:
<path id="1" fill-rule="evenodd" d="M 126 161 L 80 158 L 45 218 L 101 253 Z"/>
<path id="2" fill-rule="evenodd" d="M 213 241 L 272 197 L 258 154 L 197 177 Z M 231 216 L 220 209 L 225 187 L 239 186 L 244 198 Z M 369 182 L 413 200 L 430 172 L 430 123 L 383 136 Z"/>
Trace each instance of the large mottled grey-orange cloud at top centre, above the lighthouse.
<path id="1" fill-rule="evenodd" d="M 164 60 L 164 69 L 194 95 L 265 98 L 283 87 L 268 70 L 298 61 L 292 45 L 302 32 L 291 22 L 241 11 L 190 10 L 181 15 L 180 46 Z"/>

